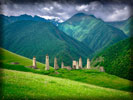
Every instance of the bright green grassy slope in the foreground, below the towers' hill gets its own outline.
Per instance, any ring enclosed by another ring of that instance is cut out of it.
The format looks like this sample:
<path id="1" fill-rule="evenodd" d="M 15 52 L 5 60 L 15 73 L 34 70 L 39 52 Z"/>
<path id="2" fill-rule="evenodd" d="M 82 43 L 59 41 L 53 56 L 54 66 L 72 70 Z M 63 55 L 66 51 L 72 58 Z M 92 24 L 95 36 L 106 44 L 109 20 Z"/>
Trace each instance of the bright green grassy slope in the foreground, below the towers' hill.
<path id="1" fill-rule="evenodd" d="M 2 100 L 131 100 L 130 92 L 46 75 L 0 69 L 0 77 Z"/>

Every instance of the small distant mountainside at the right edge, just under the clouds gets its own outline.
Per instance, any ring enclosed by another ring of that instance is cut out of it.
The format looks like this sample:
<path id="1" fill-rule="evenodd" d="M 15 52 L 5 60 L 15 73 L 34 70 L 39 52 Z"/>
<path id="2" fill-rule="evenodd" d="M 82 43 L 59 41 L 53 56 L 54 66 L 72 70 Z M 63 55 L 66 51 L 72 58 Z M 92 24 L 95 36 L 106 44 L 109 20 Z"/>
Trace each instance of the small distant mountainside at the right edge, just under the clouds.
<path id="1" fill-rule="evenodd" d="M 127 36 L 132 36 L 131 32 L 133 32 L 133 16 L 124 21 L 107 22 L 107 24 L 121 29 Z"/>

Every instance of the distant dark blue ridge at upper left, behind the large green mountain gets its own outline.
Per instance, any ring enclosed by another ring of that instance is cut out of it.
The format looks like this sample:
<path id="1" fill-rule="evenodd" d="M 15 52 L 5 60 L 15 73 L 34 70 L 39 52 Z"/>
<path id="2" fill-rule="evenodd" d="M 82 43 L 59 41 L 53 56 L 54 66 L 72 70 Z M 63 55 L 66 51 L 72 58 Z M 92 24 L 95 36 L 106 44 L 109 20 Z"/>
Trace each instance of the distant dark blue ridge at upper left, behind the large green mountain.
<path id="1" fill-rule="evenodd" d="M 22 20 L 51 22 L 54 25 L 58 25 L 58 21 L 56 21 L 54 19 L 53 20 L 46 20 L 46 19 L 41 18 L 39 16 L 32 17 L 32 16 L 27 15 L 27 14 L 20 15 L 20 16 L 5 16 L 5 15 L 0 14 L 0 19 L 2 20 L 4 25 L 8 25 L 8 24 L 14 23 L 16 21 L 22 21 Z"/>

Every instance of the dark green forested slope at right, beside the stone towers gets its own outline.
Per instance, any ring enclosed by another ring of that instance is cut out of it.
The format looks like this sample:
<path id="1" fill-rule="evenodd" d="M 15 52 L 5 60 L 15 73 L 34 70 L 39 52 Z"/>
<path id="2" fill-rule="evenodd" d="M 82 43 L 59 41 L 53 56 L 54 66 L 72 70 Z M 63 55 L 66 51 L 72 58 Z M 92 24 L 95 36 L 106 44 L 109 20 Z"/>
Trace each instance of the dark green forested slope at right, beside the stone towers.
<path id="1" fill-rule="evenodd" d="M 131 66 L 133 39 L 122 40 L 97 54 L 91 61 L 92 66 L 104 66 L 105 71 L 122 78 L 133 80 Z"/>

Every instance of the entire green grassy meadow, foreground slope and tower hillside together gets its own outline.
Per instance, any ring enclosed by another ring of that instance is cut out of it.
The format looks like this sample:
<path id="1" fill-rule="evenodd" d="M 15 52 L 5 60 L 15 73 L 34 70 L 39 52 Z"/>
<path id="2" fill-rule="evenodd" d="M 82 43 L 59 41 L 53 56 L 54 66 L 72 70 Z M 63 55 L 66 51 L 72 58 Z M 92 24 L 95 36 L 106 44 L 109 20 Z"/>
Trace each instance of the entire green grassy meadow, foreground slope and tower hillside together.
<path id="1" fill-rule="evenodd" d="M 37 62 L 39 69 L 26 66 L 32 60 L 0 49 L 2 69 L 2 99 L 45 100 L 131 100 L 132 81 L 98 70 L 45 71 L 45 64 Z M 19 62 L 13 65 L 11 62 Z"/>

